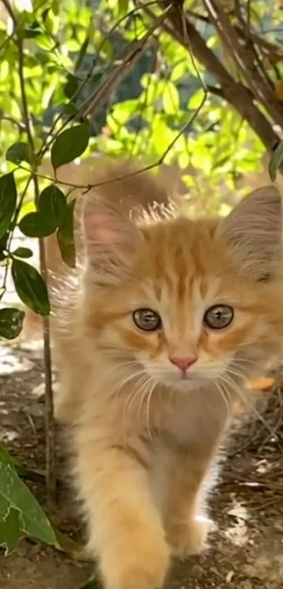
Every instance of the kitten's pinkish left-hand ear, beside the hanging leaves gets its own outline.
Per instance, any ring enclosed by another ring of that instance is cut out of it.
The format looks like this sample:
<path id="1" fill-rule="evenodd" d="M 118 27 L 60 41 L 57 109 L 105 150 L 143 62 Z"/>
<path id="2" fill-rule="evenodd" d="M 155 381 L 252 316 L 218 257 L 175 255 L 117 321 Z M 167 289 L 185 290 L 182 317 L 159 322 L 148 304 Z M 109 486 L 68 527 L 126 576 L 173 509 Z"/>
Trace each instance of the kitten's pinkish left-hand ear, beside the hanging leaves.
<path id="1" fill-rule="evenodd" d="M 88 267 L 99 284 L 114 284 L 131 272 L 142 232 L 110 201 L 93 195 L 83 213 Z"/>

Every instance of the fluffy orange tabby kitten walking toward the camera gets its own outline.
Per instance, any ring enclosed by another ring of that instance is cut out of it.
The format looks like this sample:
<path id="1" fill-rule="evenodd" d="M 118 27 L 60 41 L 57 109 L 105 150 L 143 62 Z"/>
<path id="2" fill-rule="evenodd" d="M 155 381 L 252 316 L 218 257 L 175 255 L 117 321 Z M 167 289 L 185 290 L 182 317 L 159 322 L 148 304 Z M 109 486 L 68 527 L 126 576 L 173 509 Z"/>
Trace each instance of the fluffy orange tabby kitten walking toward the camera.
<path id="1" fill-rule="evenodd" d="M 232 406 L 283 341 L 277 190 L 225 219 L 129 218 L 145 182 L 149 204 L 150 175 L 86 196 L 84 265 L 53 294 L 56 411 L 107 589 L 160 588 L 202 550 Z"/>

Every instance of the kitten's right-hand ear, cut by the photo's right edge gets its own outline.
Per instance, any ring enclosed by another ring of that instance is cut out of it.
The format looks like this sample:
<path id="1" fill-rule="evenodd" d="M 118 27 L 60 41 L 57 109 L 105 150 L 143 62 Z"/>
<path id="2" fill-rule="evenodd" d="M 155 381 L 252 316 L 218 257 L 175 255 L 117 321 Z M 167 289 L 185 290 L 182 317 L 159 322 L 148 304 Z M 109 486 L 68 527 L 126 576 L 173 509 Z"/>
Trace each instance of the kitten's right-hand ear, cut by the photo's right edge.
<path id="1" fill-rule="evenodd" d="M 282 254 L 282 199 L 273 186 L 251 192 L 218 225 L 243 267 L 264 279 Z"/>

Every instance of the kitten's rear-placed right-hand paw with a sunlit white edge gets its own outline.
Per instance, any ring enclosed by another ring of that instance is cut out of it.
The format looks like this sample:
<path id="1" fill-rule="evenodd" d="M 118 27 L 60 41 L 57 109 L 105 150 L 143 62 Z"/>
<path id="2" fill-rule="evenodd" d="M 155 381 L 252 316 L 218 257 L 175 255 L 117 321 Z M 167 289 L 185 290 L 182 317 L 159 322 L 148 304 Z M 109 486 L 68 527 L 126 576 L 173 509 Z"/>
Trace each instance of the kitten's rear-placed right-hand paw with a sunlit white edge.
<path id="1" fill-rule="evenodd" d="M 172 526 L 168 534 L 172 554 L 180 559 L 185 559 L 202 552 L 206 548 L 210 527 L 211 521 L 203 516 Z"/>

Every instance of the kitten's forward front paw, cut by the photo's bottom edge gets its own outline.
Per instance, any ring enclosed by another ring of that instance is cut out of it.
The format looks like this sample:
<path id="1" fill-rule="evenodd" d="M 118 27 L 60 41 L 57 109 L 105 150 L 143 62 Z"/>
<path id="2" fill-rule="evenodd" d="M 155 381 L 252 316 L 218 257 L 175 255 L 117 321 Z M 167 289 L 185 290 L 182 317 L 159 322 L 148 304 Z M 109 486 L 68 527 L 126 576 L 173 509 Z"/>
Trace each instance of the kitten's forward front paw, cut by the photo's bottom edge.
<path id="1" fill-rule="evenodd" d="M 170 550 L 162 539 L 121 541 L 104 553 L 101 562 L 107 589 L 161 589 L 169 569 Z"/>

